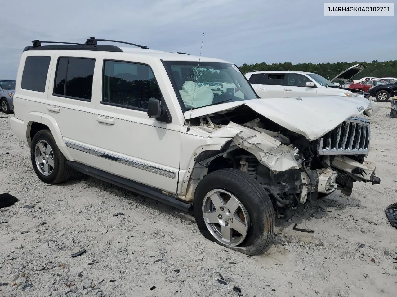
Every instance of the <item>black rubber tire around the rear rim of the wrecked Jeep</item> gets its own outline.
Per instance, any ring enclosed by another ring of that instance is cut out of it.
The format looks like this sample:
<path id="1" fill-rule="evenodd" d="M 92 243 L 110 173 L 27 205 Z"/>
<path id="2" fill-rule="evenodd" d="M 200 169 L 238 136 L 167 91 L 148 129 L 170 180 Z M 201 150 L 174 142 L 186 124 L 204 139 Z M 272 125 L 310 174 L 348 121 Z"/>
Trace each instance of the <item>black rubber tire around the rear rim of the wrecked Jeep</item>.
<path id="1" fill-rule="evenodd" d="M 54 167 L 49 175 L 42 174 L 36 164 L 35 148 L 39 141 L 46 141 L 52 149 L 52 154 L 54 158 Z M 35 134 L 35 136 L 32 139 L 30 155 L 31 155 L 33 169 L 35 170 L 35 173 L 39 177 L 39 179 L 44 183 L 48 183 L 48 184 L 62 183 L 63 181 L 66 181 L 71 177 L 73 169 L 71 169 L 69 166 L 66 165 L 66 158 L 59 150 L 54 140 L 54 137 L 52 136 L 49 130 L 47 129 L 40 130 Z"/>

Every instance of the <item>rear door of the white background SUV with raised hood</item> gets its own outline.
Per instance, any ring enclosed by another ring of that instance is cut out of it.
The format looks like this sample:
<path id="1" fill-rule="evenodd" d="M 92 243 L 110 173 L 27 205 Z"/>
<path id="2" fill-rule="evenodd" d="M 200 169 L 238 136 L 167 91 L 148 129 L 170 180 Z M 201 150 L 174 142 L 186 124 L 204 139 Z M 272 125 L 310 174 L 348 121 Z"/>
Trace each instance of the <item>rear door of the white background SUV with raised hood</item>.
<path id="1" fill-rule="evenodd" d="M 261 98 L 283 98 L 285 82 L 285 73 L 265 73 L 257 93 Z"/>

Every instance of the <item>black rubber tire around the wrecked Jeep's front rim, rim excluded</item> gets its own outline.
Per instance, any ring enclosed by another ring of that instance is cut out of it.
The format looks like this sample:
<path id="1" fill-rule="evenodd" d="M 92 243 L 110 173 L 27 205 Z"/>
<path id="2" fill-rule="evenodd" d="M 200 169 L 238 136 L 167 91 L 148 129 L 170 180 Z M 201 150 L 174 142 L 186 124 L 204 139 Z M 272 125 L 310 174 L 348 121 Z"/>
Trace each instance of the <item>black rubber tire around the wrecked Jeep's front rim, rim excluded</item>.
<path id="1" fill-rule="evenodd" d="M 202 205 L 206 195 L 214 189 L 233 194 L 245 207 L 250 224 L 247 235 L 238 246 L 227 246 L 218 242 L 208 230 L 203 217 Z M 219 169 L 198 183 L 194 197 L 194 215 L 200 232 L 209 240 L 247 255 L 264 252 L 274 236 L 276 215 L 272 201 L 260 184 L 247 173 L 238 169 Z"/>

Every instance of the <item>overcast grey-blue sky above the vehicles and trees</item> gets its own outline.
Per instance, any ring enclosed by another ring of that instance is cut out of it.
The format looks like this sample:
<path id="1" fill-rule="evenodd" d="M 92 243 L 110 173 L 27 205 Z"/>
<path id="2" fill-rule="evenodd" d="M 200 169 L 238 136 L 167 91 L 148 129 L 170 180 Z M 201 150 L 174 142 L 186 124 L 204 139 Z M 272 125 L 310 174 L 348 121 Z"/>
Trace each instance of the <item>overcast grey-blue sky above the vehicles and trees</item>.
<path id="1" fill-rule="evenodd" d="M 90 36 L 198 55 L 205 33 L 202 55 L 237 65 L 396 59 L 397 16 L 326 17 L 324 2 L 343 1 L 3 1 L 0 77 L 15 78 L 21 51 L 33 39 Z"/>

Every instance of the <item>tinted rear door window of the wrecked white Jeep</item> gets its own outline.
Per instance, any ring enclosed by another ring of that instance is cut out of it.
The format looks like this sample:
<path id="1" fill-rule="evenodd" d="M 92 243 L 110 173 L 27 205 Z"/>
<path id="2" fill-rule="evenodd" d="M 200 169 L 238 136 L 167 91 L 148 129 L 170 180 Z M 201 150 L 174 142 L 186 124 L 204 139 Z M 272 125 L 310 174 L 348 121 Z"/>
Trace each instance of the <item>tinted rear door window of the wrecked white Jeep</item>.
<path id="1" fill-rule="evenodd" d="M 91 101 L 95 59 L 60 57 L 56 67 L 54 95 Z"/>

